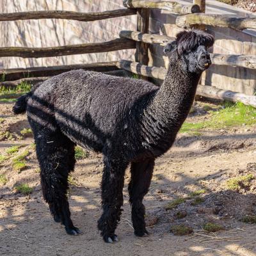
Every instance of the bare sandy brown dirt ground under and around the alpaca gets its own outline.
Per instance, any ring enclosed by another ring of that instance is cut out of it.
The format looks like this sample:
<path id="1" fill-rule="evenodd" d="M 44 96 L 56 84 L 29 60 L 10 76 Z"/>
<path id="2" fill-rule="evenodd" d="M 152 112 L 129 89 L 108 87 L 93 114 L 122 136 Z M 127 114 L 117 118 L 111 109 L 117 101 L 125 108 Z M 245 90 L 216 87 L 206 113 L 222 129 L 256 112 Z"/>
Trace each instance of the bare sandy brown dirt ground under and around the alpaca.
<path id="1" fill-rule="evenodd" d="M 157 159 L 154 177 L 145 196 L 150 236 L 134 236 L 128 203 L 125 175 L 124 212 L 116 234 L 119 241 L 106 244 L 97 230 L 100 216 L 99 182 L 102 170 L 100 154 L 77 161 L 70 186 L 70 210 L 81 236 L 68 236 L 63 226 L 54 223 L 42 200 L 38 163 L 32 137 L 19 140 L 20 130 L 28 128 L 26 116 L 13 116 L 12 104 L 0 104 L 0 154 L 6 148 L 22 145 L 29 150 L 28 167 L 20 173 L 12 170 L 11 160 L 0 164 L 0 174 L 8 181 L 0 184 L 0 254 L 1 255 L 170 255 L 217 256 L 256 255 L 256 225 L 241 218 L 256 214 L 256 182 L 239 191 L 228 190 L 227 180 L 239 175 L 256 174 L 256 126 L 228 130 L 204 131 L 200 136 L 179 134 L 172 150 Z M 190 116 L 189 120 L 207 119 L 207 115 Z M 8 133 L 8 132 L 9 133 Z M 7 132 L 7 133 L 6 133 Z M 11 136 L 10 136 L 11 135 Z M 24 196 L 15 191 L 21 183 L 33 187 Z M 199 204 L 193 204 L 192 192 L 205 189 Z M 173 209 L 166 205 L 175 198 L 187 198 Z M 185 212 L 177 218 L 177 212 Z M 204 223 L 222 225 L 219 232 L 204 232 Z M 174 236 L 171 227 L 186 224 L 194 233 Z"/>

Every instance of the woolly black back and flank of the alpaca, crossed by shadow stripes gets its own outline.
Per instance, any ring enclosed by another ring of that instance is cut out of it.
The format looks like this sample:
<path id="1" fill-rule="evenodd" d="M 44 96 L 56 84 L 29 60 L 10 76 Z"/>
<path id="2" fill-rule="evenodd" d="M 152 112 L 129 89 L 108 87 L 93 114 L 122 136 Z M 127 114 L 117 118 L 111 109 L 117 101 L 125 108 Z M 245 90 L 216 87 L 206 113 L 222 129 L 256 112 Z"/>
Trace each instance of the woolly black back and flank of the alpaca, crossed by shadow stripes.
<path id="1" fill-rule="evenodd" d="M 72 141 L 101 151 L 107 138 L 122 132 L 116 127 L 127 123 L 134 104 L 154 90 L 157 86 L 140 79 L 74 70 L 40 84 L 30 104 L 47 108 L 44 124 L 50 120 Z"/>

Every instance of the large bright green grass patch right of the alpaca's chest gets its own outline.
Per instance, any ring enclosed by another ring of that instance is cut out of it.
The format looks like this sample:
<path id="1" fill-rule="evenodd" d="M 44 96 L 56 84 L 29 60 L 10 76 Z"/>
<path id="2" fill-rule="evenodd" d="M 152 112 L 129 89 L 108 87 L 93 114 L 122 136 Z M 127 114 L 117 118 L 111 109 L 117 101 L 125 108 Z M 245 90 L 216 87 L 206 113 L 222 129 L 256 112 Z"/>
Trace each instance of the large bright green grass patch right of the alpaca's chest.
<path id="1" fill-rule="evenodd" d="M 223 109 L 209 111 L 210 118 L 204 122 L 184 122 L 180 132 L 199 132 L 202 129 L 222 129 L 225 127 L 236 127 L 239 125 L 256 124 L 256 109 L 245 106 L 241 102 L 236 104 L 225 103 Z"/>

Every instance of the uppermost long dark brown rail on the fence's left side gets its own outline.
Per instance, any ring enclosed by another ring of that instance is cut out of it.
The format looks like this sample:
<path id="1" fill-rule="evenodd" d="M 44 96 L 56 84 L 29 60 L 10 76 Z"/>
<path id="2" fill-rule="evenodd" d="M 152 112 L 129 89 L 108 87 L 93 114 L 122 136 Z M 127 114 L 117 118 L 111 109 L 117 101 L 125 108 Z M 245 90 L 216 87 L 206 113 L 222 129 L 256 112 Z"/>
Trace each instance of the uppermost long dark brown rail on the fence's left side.
<path id="1" fill-rule="evenodd" d="M 68 12 L 68 11 L 35 11 L 35 12 L 15 12 L 0 13 L 0 21 L 6 20 L 38 20 L 38 19 L 67 19 L 79 21 L 103 20 L 115 17 L 123 17 L 136 14 L 134 9 L 120 9 L 106 12 Z"/>

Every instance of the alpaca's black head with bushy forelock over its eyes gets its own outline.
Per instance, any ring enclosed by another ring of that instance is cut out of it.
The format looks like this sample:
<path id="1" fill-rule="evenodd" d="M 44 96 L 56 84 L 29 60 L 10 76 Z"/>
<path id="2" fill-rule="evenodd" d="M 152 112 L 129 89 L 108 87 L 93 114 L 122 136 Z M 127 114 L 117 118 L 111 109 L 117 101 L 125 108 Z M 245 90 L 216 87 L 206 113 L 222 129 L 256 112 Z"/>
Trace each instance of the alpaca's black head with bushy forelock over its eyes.
<path id="1" fill-rule="evenodd" d="M 164 47 L 164 53 L 170 58 L 170 65 L 180 62 L 184 71 L 200 73 L 211 65 L 208 49 L 213 43 L 214 37 L 204 31 L 182 31 Z"/>

